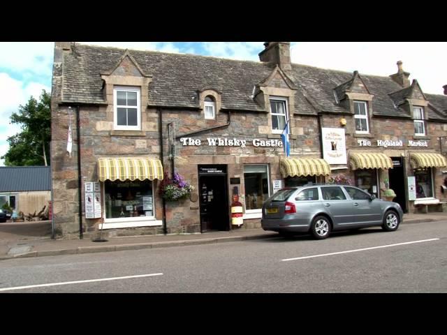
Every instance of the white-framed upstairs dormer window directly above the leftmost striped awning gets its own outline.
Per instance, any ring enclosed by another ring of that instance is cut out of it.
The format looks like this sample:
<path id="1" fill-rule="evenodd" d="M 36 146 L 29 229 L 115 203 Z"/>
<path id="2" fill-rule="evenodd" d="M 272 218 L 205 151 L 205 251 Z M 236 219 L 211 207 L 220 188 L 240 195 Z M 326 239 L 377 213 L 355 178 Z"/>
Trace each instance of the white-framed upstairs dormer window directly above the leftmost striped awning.
<path id="1" fill-rule="evenodd" d="M 115 87 L 113 89 L 113 102 L 115 129 L 120 131 L 140 131 L 140 89 Z"/>

